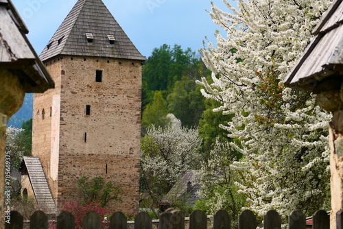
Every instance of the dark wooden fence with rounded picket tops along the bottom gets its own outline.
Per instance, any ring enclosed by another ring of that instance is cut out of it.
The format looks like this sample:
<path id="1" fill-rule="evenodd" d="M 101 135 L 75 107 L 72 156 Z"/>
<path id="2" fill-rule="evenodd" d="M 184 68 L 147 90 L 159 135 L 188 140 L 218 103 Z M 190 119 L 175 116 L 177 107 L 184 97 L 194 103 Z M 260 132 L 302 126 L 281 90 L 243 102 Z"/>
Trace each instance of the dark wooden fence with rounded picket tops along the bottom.
<path id="1" fill-rule="evenodd" d="M 342 228 L 342 212 L 337 213 L 337 229 Z M 329 229 L 329 215 L 324 210 L 318 210 L 313 216 L 314 229 Z M 270 210 L 263 217 L 263 228 L 281 228 L 281 216 L 276 210 Z M 10 224 L 5 224 L 5 229 L 23 229 L 23 217 L 20 213 L 12 211 L 10 214 Z M 47 229 L 48 217 L 42 211 L 36 211 L 30 218 L 30 229 Z M 75 228 L 75 217 L 71 213 L 63 211 L 57 217 L 58 229 Z M 89 212 L 83 219 L 83 229 L 102 228 L 102 219 L 95 212 Z M 126 216 L 117 212 L 110 217 L 110 229 L 126 229 Z M 160 229 L 185 229 L 185 214 L 180 210 L 167 210 L 161 213 L 158 228 Z M 206 229 L 207 217 L 202 210 L 194 210 L 189 217 L 189 229 Z M 219 210 L 213 216 L 213 229 L 230 228 L 230 215 L 225 210 Z M 239 229 L 256 229 L 256 215 L 251 210 L 244 210 L 239 215 Z M 289 215 L 289 229 L 305 229 L 306 217 L 300 210 L 294 210 Z M 134 229 L 152 229 L 152 219 L 147 213 L 139 213 L 134 219 Z"/>

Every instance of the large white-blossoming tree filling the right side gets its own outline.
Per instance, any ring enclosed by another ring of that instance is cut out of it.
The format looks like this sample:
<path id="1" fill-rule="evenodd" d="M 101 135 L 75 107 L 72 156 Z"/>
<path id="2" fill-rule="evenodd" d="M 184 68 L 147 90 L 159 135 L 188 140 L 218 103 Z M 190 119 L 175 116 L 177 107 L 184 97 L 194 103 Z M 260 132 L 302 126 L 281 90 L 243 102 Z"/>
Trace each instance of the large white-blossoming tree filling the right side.
<path id="1" fill-rule="evenodd" d="M 283 86 L 283 79 L 311 38 L 329 0 L 238 0 L 233 14 L 215 5 L 213 22 L 225 29 L 217 45 L 202 50 L 213 83 L 203 95 L 235 114 L 222 128 L 244 159 L 232 167 L 247 207 L 263 215 L 296 208 L 313 213 L 329 202 L 329 115 L 314 97 Z"/>

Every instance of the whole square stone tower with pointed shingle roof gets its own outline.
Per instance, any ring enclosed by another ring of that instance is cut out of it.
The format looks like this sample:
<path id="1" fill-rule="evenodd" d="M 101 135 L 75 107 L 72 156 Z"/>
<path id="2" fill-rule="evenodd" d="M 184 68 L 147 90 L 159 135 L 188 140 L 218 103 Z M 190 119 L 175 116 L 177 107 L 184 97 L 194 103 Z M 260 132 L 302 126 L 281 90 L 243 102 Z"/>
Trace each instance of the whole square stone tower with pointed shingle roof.
<path id="1" fill-rule="evenodd" d="M 32 154 L 58 208 L 101 176 L 123 189 L 110 210 L 136 213 L 145 58 L 101 0 L 78 0 L 40 59 L 56 87 L 34 96 Z"/>

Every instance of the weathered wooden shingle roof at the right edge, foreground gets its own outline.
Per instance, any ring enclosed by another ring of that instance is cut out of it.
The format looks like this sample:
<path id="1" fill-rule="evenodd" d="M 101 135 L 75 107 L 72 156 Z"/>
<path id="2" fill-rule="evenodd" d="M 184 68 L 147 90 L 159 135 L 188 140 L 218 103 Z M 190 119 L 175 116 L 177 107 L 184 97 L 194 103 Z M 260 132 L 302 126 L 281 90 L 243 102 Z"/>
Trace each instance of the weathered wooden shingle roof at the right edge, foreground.
<path id="1" fill-rule="evenodd" d="M 287 75 L 285 85 L 318 93 L 318 82 L 339 77 L 343 70 L 342 0 L 333 1 L 312 34 L 316 36 Z"/>

